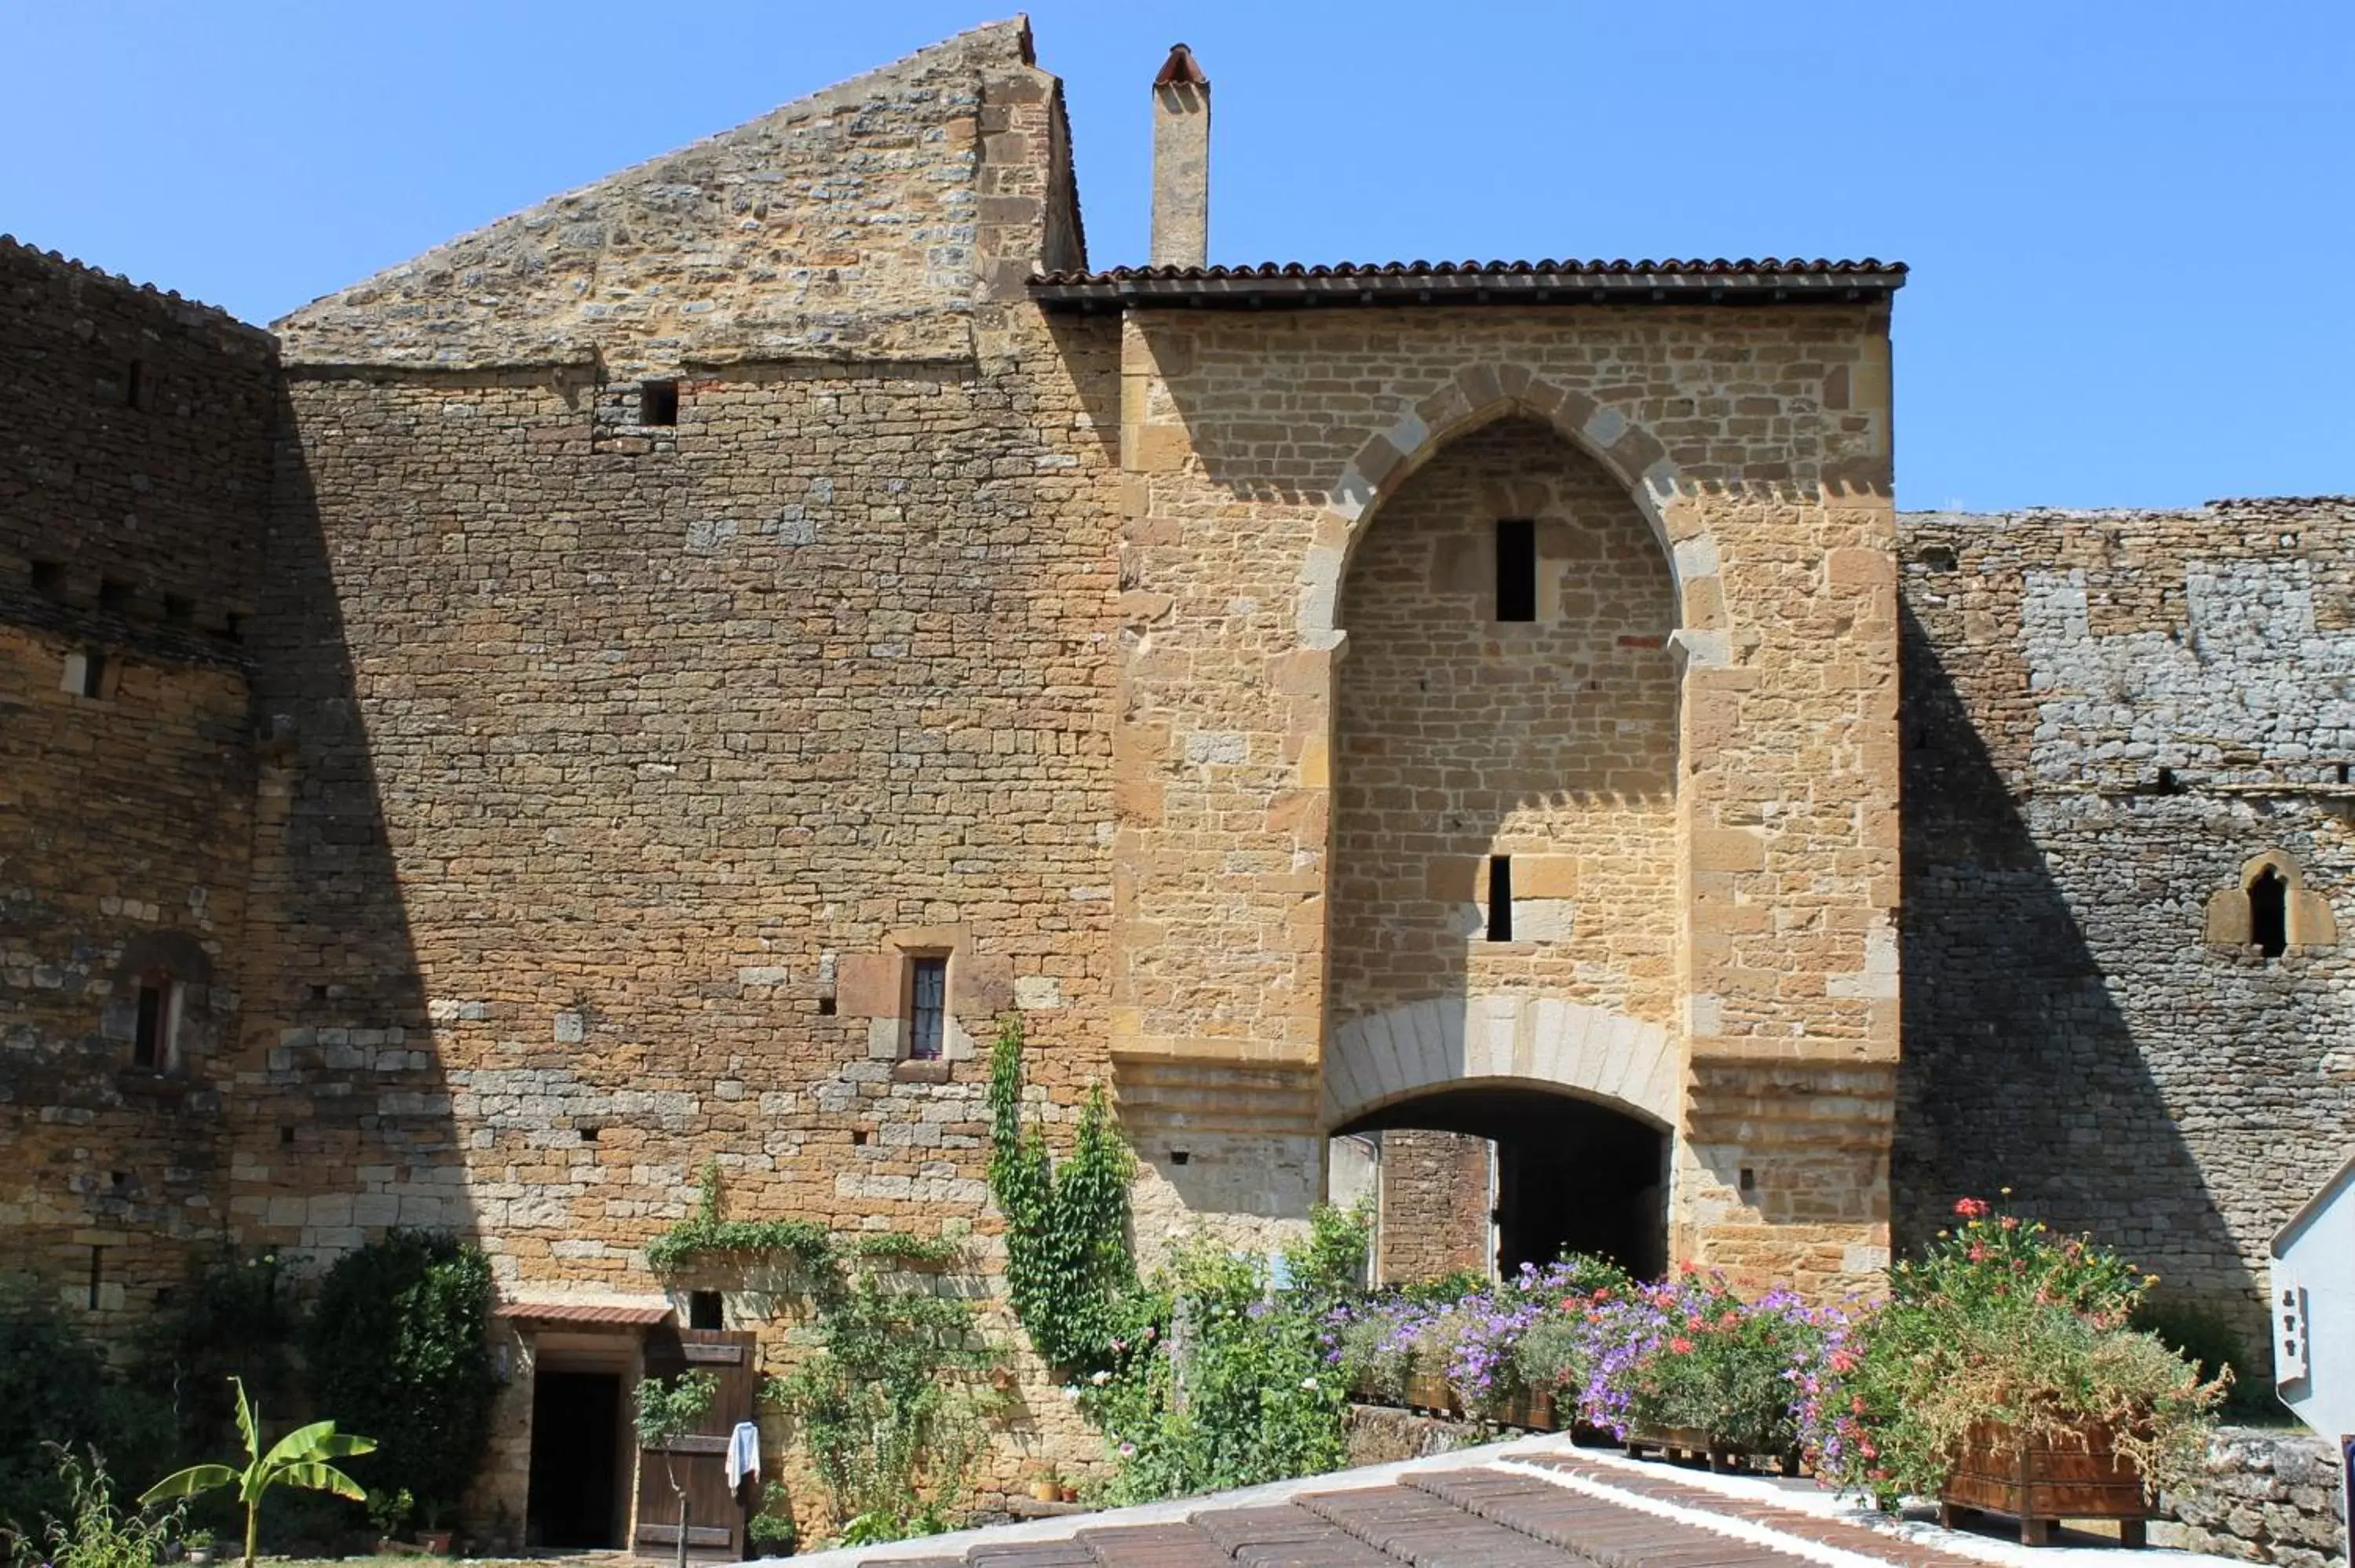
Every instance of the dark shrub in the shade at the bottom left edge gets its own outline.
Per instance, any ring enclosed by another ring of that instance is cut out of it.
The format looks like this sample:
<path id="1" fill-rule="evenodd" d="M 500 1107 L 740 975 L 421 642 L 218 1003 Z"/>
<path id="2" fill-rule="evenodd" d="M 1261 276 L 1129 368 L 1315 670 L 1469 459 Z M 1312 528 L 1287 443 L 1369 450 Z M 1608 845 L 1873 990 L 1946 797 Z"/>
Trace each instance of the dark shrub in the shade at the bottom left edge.
<path id="1" fill-rule="evenodd" d="M 0 1300 L 0 1528 L 33 1530 L 78 1516 L 82 1490 L 106 1486 L 101 1460 L 68 1469 L 54 1448 L 97 1453 L 115 1474 L 162 1469 L 172 1420 L 45 1302 Z"/>

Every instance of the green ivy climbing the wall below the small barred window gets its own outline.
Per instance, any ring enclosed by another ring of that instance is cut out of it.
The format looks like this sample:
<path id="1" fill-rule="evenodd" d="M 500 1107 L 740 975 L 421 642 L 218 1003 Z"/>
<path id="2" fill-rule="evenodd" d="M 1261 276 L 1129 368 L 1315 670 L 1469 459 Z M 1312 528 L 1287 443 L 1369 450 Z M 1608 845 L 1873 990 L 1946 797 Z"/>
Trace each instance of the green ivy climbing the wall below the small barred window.
<path id="1" fill-rule="evenodd" d="M 1112 1366 L 1114 1342 L 1152 1316 L 1128 1250 L 1135 1156 L 1112 1123 L 1104 1090 L 1079 1114 L 1057 1165 L 1046 1135 L 1022 1121 L 1022 1019 L 999 1022 L 989 1055 L 989 1191 L 1006 1215 L 1006 1293 L 1039 1356 L 1064 1373 Z"/>

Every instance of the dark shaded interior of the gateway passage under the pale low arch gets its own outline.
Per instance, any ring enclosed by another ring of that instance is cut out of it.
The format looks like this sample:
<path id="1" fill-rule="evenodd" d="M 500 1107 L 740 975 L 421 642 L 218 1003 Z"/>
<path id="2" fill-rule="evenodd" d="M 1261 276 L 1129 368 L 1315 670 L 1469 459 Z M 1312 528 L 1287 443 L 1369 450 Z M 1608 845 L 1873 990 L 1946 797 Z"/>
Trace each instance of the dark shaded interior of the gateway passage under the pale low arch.
<path id="1" fill-rule="evenodd" d="M 1526 1088 L 1458 1088 L 1382 1107 L 1345 1128 L 1427 1128 L 1495 1144 L 1495 1262 L 1512 1274 L 1561 1253 L 1611 1257 L 1639 1278 L 1667 1269 L 1667 1135 L 1611 1107 Z M 1385 1224 L 1413 1222 L 1392 1215 Z"/>

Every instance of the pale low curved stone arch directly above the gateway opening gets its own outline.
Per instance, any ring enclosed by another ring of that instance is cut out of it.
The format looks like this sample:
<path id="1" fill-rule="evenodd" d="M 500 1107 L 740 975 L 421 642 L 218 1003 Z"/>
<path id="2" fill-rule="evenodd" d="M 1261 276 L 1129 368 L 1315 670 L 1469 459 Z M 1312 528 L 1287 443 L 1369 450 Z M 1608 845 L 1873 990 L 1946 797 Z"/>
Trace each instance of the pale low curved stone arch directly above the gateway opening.
<path id="1" fill-rule="evenodd" d="M 1660 1128 L 1674 1128 L 1684 1109 L 1677 1041 L 1665 1024 L 1543 994 L 1446 996 L 1333 1031 L 1324 1055 L 1326 1128 L 1484 1083 L 1597 1099 Z"/>

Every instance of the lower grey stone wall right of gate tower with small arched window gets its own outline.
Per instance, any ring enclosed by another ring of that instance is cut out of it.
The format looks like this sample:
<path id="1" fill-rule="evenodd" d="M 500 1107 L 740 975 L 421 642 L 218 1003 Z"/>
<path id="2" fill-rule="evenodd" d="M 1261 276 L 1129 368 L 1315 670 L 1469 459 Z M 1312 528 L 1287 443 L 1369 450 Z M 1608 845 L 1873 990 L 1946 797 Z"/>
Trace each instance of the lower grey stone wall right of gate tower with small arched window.
<path id="1" fill-rule="evenodd" d="M 1900 1236 L 2011 1187 L 2263 1356 L 2266 1243 L 2355 1125 L 2355 504 L 1900 532 Z"/>

